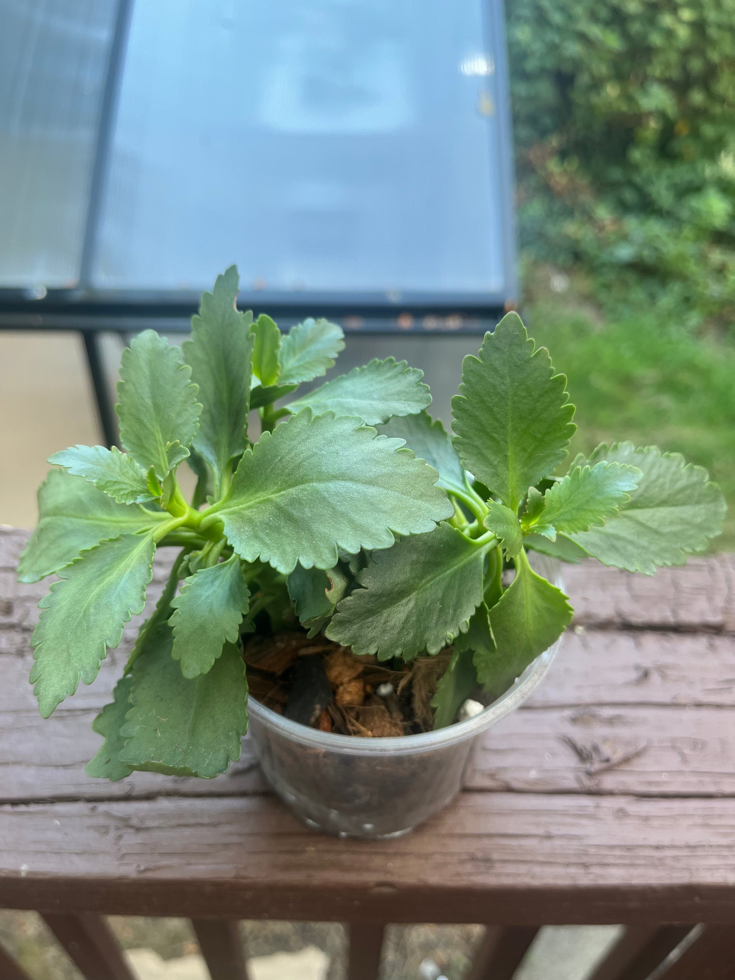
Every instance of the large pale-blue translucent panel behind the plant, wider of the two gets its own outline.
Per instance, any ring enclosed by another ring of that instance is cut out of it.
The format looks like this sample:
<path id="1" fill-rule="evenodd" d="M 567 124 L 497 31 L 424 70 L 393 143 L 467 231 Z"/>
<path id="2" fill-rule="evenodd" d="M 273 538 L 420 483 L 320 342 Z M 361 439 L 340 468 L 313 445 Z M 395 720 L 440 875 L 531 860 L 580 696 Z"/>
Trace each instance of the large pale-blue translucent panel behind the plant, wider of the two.
<path id="1" fill-rule="evenodd" d="M 501 289 L 491 46 L 482 0 L 137 0 L 93 281 Z"/>

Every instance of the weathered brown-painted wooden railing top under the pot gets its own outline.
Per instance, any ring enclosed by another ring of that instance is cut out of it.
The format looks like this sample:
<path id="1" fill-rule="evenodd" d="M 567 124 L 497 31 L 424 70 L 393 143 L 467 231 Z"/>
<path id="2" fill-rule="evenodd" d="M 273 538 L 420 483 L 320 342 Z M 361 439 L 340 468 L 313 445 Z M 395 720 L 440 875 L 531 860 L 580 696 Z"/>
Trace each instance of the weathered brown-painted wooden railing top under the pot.
<path id="1" fill-rule="evenodd" d="M 735 921 L 735 556 L 565 569 L 575 626 L 459 801 L 397 841 L 308 830 L 246 740 L 214 781 L 93 780 L 100 675 L 43 721 L 25 531 L 0 530 L 0 906 L 392 922 Z M 150 598 L 160 589 L 164 558 Z M 91 905 L 90 905 L 91 903 Z M 204 910 L 203 910 L 204 906 Z"/>

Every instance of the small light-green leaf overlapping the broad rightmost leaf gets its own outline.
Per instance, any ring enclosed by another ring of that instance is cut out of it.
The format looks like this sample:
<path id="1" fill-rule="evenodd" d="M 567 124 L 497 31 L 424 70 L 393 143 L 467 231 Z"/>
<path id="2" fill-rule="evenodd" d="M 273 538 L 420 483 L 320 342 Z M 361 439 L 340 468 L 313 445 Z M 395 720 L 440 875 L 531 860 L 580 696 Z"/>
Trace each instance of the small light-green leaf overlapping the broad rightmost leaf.
<path id="1" fill-rule="evenodd" d="M 602 527 L 630 500 L 642 475 L 636 466 L 619 463 L 574 466 L 563 480 L 549 487 L 543 512 L 527 526 L 537 534 L 546 533 L 552 541 L 556 531 L 571 534 Z"/>

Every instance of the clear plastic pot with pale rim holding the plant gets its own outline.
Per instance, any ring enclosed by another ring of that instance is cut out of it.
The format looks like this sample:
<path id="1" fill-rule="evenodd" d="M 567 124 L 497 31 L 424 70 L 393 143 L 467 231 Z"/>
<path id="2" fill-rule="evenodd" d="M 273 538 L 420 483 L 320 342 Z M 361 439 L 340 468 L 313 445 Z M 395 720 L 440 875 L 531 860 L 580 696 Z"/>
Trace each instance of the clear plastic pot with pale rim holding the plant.
<path id="1" fill-rule="evenodd" d="M 561 587 L 556 562 L 534 557 L 533 564 Z M 438 731 L 402 738 L 333 735 L 252 699 L 250 736 L 270 785 L 310 827 L 340 837 L 399 837 L 454 800 L 479 741 L 541 683 L 561 642 L 485 711 Z"/>

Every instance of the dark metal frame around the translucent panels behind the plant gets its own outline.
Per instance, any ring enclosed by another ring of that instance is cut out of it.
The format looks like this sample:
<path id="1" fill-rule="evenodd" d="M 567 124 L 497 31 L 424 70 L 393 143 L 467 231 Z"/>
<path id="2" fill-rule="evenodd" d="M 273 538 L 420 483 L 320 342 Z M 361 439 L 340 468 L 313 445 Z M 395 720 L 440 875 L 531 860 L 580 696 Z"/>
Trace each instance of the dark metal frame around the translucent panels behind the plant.
<path id="1" fill-rule="evenodd" d="M 113 40 L 100 104 L 100 123 L 92 171 L 89 204 L 79 272 L 72 289 L 49 289 L 42 297 L 33 290 L 0 289 L 0 330 L 74 330 L 83 340 L 105 441 L 118 438 L 117 420 L 100 350 L 100 334 L 121 336 L 149 327 L 161 332 L 188 331 L 199 294 L 166 290 L 101 290 L 91 283 L 100 228 L 110 150 L 123 73 L 124 51 L 134 0 L 118 0 Z M 482 0 L 479 0 L 482 2 Z M 421 335 L 484 332 L 504 311 L 515 308 L 515 221 L 513 209 L 513 154 L 510 93 L 505 49 L 502 0 L 485 0 L 485 28 L 495 43 L 497 123 L 503 208 L 503 255 L 507 292 L 275 292 L 240 293 L 239 305 L 256 313 L 267 310 L 284 327 L 306 316 L 339 320 L 348 332 L 398 332 Z"/>

